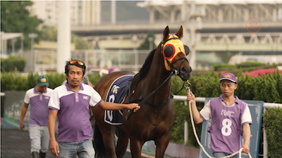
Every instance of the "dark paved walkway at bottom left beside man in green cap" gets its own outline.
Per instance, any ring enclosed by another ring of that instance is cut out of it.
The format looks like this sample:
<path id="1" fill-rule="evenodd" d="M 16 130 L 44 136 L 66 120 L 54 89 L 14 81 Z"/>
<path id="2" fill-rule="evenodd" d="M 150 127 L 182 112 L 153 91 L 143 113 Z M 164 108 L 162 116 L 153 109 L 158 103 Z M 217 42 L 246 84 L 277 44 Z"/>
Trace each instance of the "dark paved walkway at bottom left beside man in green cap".
<path id="1" fill-rule="evenodd" d="M 15 128 L 1 128 L 1 157 L 2 158 L 29 158 L 30 137 L 28 131 Z M 126 152 L 124 158 L 130 158 L 131 154 Z M 46 158 L 55 158 L 50 150 Z M 142 157 L 145 158 L 145 157 Z"/>

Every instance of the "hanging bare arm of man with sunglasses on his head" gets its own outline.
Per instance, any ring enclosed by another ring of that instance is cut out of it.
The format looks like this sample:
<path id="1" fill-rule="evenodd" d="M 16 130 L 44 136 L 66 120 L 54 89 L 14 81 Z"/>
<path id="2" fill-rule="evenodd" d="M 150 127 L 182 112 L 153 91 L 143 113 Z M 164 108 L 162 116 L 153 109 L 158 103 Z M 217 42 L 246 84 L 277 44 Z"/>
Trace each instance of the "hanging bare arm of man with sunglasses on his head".
<path id="1" fill-rule="evenodd" d="M 50 110 L 49 112 L 49 133 L 50 133 L 50 150 L 51 153 L 58 157 L 59 153 L 59 144 L 56 142 L 55 138 L 55 125 L 56 125 L 56 117 L 58 111 L 57 110 Z"/>

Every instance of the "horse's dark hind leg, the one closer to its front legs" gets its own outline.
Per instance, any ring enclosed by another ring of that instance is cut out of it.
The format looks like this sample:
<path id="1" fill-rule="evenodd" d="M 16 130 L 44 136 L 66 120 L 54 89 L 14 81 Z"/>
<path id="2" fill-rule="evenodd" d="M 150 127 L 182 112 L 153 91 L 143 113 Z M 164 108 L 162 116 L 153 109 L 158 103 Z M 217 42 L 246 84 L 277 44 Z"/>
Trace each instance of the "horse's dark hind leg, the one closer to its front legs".
<path id="1" fill-rule="evenodd" d="M 116 156 L 122 158 L 128 147 L 128 134 L 118 129 L 118 143 L 116 144 Z"/>

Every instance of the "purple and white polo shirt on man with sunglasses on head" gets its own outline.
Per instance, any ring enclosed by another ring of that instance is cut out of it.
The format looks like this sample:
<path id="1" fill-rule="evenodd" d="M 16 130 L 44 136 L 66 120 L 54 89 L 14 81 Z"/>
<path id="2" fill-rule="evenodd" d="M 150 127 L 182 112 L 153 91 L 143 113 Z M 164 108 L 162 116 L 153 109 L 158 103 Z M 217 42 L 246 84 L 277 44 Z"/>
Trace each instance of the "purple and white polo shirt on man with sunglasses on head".
<path id="1" fill-rule="evenodd" d="M 91 86 L 80 84 L 75 92 L 68 83 L 54 89 L 49 109 L 58 111 L 58 142 L 80 142 L 92 137 L 92 126 L 88 114 L 89 105 L 96 106 L 102 98 Z"/>

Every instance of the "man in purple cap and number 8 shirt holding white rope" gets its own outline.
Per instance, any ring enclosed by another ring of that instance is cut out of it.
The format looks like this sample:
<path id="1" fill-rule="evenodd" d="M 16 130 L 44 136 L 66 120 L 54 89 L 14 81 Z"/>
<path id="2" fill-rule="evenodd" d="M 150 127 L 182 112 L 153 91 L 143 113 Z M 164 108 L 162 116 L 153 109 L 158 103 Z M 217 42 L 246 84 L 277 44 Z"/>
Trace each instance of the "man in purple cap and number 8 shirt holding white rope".
<path id="1" fill-rule="evenodd" d="M 209 100 L 200 112 L 197 110 L 194 94 L 192 92 L 187 94 L 194 121 L 200 124 L 211 119 L 212 124 L 208 131 L 211 133 L 211 149 L 214 157 L 226 157 L 238 152 L 240 148 L 243 148 L 243 152 L 249 153 L 250 124 L 252 124 L 249 107 L 247 103 L 234 96 L 237 88 L 234 74 L 223 74 L 219 81 L 222 95 Z M 242 134 L 245 139 L 243 146 Z M 238 157 L 238 154 L 233 157 Z"/>

